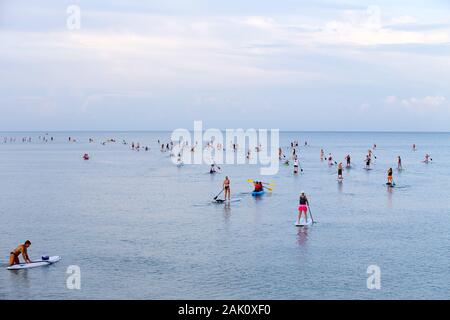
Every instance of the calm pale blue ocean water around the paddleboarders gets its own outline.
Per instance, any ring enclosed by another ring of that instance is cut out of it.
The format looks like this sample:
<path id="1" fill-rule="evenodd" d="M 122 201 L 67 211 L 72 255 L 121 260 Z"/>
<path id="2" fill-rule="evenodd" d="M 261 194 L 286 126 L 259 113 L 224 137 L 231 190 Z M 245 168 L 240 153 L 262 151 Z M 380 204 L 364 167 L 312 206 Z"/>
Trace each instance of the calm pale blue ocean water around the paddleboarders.
<path id="1" fill-rule="evenodd" d="M 39 135 L 0 133 L 16 137 L 0 141 L 0 299 L 450 298 L 449 133 L 283 132 L 285 149 L 300 142 L 303 173 L 281 165 L 263 178 L 273 192 L 257 199 L 247 179 L 261 178 L 259 166 L 178 168 L 157 145 L 168 132 L 57 132 L 48 143 Z M 99 143 L 106 138 L 117 143 Z M 338 161 L 352 155 L 343 183 L 321 148 Z M 432 163 L 421 162 L 425 153 Z M 387 188 L 397 155 L 405 170 L 394 169 L 398 188 Z M 225 175 L 242 200 L 212 204 Z M 317 222 L 308 229 L 294 226 L 301 190 Z M 25 239 L 31 258 L 62 260 L 6 270 Z M 79 290 L 66 286 L 71 265 Z M 381 270 L 379 290 L 367 288 L 370 265 Z"/>

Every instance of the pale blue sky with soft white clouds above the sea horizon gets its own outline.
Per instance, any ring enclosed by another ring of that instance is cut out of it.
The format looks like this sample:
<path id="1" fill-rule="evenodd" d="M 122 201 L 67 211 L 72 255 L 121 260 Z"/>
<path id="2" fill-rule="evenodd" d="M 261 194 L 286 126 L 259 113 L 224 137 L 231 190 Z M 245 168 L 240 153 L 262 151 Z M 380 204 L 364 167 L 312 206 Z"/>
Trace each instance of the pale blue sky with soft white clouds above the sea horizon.
<path id="1" fill-rule="evenodd" d="M 450 131 L 444 0 L 0 0 L 0 131 Z"/>

